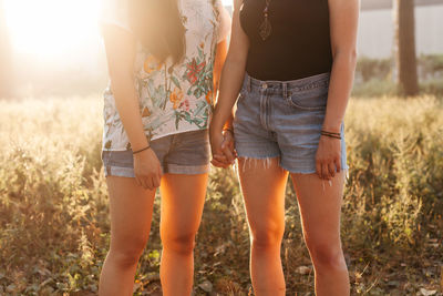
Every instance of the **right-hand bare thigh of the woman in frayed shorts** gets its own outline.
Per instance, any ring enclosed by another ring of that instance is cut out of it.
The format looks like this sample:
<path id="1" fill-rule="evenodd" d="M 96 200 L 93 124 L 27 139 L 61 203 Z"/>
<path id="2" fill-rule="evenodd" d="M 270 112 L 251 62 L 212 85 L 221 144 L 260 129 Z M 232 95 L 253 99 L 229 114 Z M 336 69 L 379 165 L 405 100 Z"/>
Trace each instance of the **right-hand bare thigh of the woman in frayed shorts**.
<path id="1" fill-rule="evenodd" d="M 291 174 L 291 177 L 307 243 L 340 243 L 344 172 L 338 173 L 331 182 L 323 181 L 316 174 Z"/>

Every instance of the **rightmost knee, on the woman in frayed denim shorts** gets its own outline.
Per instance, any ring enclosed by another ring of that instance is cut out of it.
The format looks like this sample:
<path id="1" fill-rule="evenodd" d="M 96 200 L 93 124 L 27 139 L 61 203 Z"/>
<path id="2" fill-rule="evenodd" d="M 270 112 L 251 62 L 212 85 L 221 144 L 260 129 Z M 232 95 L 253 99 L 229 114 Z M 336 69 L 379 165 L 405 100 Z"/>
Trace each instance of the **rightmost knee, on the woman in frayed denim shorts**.
<path id="1" fill-rule="evenodd" d="M 346 269 L 343 251 L 340 243 L 309 242 L 307 241 L 309 253 L 316 269 Z"/>

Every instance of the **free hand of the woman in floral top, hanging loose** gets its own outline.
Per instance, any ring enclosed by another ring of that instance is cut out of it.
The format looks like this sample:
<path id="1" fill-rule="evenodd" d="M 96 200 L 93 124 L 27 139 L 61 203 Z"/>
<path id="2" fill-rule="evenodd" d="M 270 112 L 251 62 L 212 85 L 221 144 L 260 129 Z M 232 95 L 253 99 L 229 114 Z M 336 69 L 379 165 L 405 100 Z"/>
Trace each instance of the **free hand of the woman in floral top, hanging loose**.
<path id="1" fill-rule="evenodd" d="M 134 173 L 138 186 L 151 191 L 159 187 L 162 166 L 152 149 L 134 154 Z"/>

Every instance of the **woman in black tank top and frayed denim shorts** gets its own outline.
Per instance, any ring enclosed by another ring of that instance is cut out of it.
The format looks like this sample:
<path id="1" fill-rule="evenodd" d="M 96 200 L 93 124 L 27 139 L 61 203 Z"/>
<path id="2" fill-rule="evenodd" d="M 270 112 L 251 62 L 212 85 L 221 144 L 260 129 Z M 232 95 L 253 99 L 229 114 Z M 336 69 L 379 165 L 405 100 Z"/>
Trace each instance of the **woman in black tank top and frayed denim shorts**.
<path id="1" fill-rule="evenodd" d="M 238 157 L 255 295 L 286 293 L 280 245 L 288 173 L 316 295 L 349 295 L 340 213 L 359 0 L 234 1 L 210 142 L 214 165 L 227 167 Z"/>

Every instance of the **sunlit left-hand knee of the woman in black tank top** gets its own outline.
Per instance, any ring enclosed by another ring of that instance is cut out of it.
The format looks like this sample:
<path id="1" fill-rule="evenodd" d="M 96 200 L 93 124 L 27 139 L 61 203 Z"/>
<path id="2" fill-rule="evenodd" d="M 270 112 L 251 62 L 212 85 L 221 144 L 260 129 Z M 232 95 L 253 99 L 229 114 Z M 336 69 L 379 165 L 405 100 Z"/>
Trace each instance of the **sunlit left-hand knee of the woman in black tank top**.
<path id="1" fill-rule="evenodd" d="M 253 246 L 258 251 L 267 251 L 280 247 L 284 232 L 285 227 L 277 224 L 253 229 Z"/>

